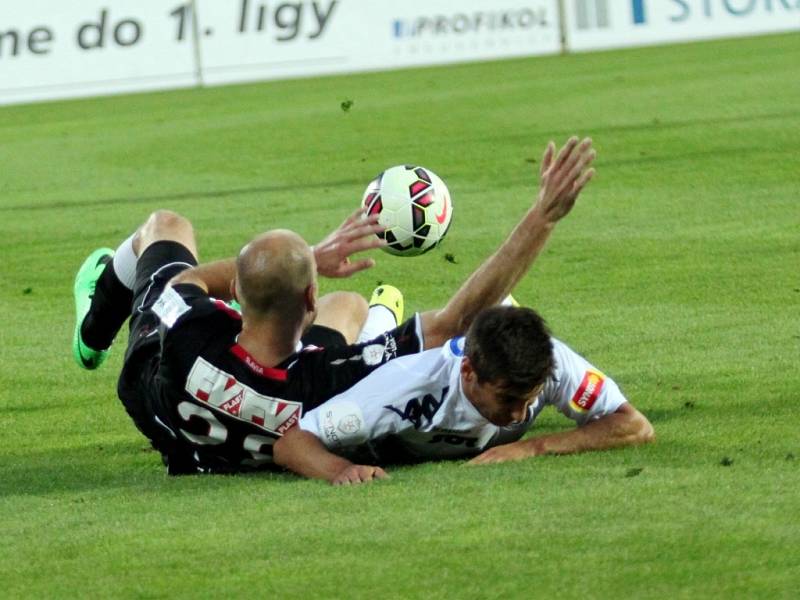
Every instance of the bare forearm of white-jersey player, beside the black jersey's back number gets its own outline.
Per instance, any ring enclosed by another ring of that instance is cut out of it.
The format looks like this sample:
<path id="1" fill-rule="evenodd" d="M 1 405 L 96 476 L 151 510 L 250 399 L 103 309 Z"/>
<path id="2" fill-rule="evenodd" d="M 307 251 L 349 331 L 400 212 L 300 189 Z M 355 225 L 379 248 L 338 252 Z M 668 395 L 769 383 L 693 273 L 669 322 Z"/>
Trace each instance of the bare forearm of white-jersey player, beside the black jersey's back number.
<path id="1" fill-rule="evenodd" d="M 272 448 L 275 464 L 303 477 L 333 481 L 352 463 L 331 453 L 317 436 L 295 427 L 275 442 Z"/>

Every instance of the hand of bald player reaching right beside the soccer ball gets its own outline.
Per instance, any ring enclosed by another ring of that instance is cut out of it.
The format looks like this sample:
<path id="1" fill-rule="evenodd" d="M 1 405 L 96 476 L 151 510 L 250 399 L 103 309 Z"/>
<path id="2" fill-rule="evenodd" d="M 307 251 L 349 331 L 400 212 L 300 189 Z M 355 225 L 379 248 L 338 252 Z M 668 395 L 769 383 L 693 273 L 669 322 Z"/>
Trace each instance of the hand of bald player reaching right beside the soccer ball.
<path id="1" fill-rule="evenodd" d="M 359 208 L 314 246 L 317 273 L 323 277 L 350 277 L 375 266 L 371 258 L 351 261 L 350 257 L 356 252 L 385 246 L 386 241 L 375 235 L 382 230 L 383 227 L 378 225 L 378 215 L 364 218 L 364 209 Z"/>

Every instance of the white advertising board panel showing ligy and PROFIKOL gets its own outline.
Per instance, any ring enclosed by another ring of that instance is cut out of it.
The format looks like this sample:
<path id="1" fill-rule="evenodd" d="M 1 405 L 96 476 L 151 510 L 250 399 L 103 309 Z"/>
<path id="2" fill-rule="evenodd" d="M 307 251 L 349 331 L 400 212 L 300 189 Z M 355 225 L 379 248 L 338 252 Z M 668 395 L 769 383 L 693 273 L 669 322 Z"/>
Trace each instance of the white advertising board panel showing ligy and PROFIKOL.
<path id="1" fill-rule="evenodd" d="M 561 50 L 557 0 L 198 0 L 207 83 Z"/>

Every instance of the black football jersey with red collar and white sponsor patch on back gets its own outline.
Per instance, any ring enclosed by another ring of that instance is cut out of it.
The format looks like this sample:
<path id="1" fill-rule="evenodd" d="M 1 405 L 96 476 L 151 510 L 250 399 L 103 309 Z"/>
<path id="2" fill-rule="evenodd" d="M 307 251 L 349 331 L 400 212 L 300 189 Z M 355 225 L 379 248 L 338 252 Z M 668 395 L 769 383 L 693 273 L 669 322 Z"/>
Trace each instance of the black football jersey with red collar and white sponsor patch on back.
<path id="1" fill-rule="evenodd" d="M 161 320 L 152 411 L 173 440 L 168 452 L 161 449 L 171 472 L 271 465 L 275 440 L 306 411 L 422 349 L 415 315 L 369 342 L 305 347 L 267 367 L 237 343 L 239 313 L 195 285 L 167 288 L 152 310 Z"/>

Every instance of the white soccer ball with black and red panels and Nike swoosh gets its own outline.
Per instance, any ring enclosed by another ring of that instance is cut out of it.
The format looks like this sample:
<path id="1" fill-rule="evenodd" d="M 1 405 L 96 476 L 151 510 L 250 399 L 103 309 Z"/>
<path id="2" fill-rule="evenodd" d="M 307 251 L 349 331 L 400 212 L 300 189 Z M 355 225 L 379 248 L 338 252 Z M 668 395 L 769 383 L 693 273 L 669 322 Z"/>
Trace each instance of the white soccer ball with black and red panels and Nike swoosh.
<path id="1" fill-rule="evenodd" d="M 378 237 L 388 242 L 383 249 L 397 256 L 417 256 L 438 246 L 453 218 L 447 186 L 424 167 L 386 169 L 367 186 L 362 204 L 368 215 L 380 215 L 386 231 Z"/>

